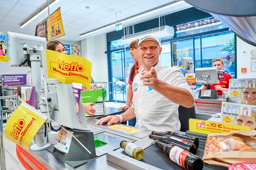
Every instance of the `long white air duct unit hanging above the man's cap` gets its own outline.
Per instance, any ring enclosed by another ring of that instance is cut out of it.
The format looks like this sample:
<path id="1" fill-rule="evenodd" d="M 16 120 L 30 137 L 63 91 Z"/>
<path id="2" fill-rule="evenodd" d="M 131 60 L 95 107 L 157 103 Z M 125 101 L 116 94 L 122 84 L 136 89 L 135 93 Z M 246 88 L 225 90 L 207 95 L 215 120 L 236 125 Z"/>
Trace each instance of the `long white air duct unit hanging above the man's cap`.
<path id="1" fill-rule="evenodd" d="M 154 28 L 146 31 L 142 31 L 139 33 L 131 34 L 128 36 L 124 36 L 121 39 L 122 43 L 130 44 L 133 40 L 138 39 L 140 36 L 143 36 L 144 34 L 155 34 L 158 36 L 158 38 L 164 38 L 164 37 L 171 37 L 174 35 L 174 29 L 173 27 L 170 27 L 168 25 L 165 25 L 163 27 Z"/>

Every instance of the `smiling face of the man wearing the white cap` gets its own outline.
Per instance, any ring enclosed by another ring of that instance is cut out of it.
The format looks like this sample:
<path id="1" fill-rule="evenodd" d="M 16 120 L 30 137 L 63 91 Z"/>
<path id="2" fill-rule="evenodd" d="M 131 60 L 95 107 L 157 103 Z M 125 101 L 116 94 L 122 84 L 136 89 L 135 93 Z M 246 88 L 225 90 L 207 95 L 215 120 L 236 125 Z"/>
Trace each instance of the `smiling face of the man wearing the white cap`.
<path id="1" fill-rule="evenodd" d="M 159 55 L 162 52 L 162 47 L 153 40 L 143 41 L 138 48 L 139 56 L 145 71 L 150 71 L 159 62 Z"/>

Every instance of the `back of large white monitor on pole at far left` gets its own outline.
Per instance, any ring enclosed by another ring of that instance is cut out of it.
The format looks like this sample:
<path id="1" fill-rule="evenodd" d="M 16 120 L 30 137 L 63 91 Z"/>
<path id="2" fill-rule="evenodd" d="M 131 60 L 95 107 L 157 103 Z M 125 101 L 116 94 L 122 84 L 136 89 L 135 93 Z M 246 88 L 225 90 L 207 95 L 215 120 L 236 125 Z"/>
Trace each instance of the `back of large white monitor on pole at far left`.
<path id="1" fill-rule="evenodd" d="M 21 65 L 21 61 L 23 61 L 23 59 L 26 58 L 23 50 L 24 44 L 26 44 L 29 48 L 47 48 L 46 39 L 43 37 L 8 32 L 8 39 L 8 59 L 9 66 L 12 67 L 19 67 L 19 65 Z M 28 63 L 25 63 L 24 65 L 21 65 L 21 67 L 29 67 L 29 65 Z"/>

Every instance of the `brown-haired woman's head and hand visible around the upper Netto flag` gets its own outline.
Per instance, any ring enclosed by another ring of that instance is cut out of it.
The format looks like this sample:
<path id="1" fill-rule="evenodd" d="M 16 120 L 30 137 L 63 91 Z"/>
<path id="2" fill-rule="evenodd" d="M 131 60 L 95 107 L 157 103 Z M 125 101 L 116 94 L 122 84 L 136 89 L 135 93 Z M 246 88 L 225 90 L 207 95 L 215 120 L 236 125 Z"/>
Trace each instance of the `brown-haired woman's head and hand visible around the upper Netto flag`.
<path id="1" fill-rule="evenodd" d="M 58 52 L 63 53 L 63 54 L 67 54 L 67 51 L 66 51 L 66 48 L 65 48 L 64 44 L 59 40 L 49 41 L 47 43 L 47 49 L 50 49 L 50 50 L 53 50 L 53 51 L 58 51 Z M 83 104 L 84 104 L 85 113 L 93 116 L 94 112 L 95 112 L 95 109 L 92 108 L 91 105 L 93 105 L 95 103 L 83 103 Z"/>

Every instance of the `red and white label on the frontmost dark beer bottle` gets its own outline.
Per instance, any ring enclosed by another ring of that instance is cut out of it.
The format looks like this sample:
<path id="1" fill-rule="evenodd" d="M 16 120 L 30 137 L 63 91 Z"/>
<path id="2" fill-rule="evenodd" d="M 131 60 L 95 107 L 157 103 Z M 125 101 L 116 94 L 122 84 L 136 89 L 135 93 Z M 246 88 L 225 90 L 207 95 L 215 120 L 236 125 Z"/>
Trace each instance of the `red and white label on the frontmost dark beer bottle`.
<path id="1" fill-rule="evenodd" d="M 169 157 L 177 165 L 186 169 L 185 158 L 186 158 L 187 154 L 189 154 L 189 152 L 183 150 L 182 148 L 180 148 L 178 146 L 173 146 L 170 150 Z"/>

